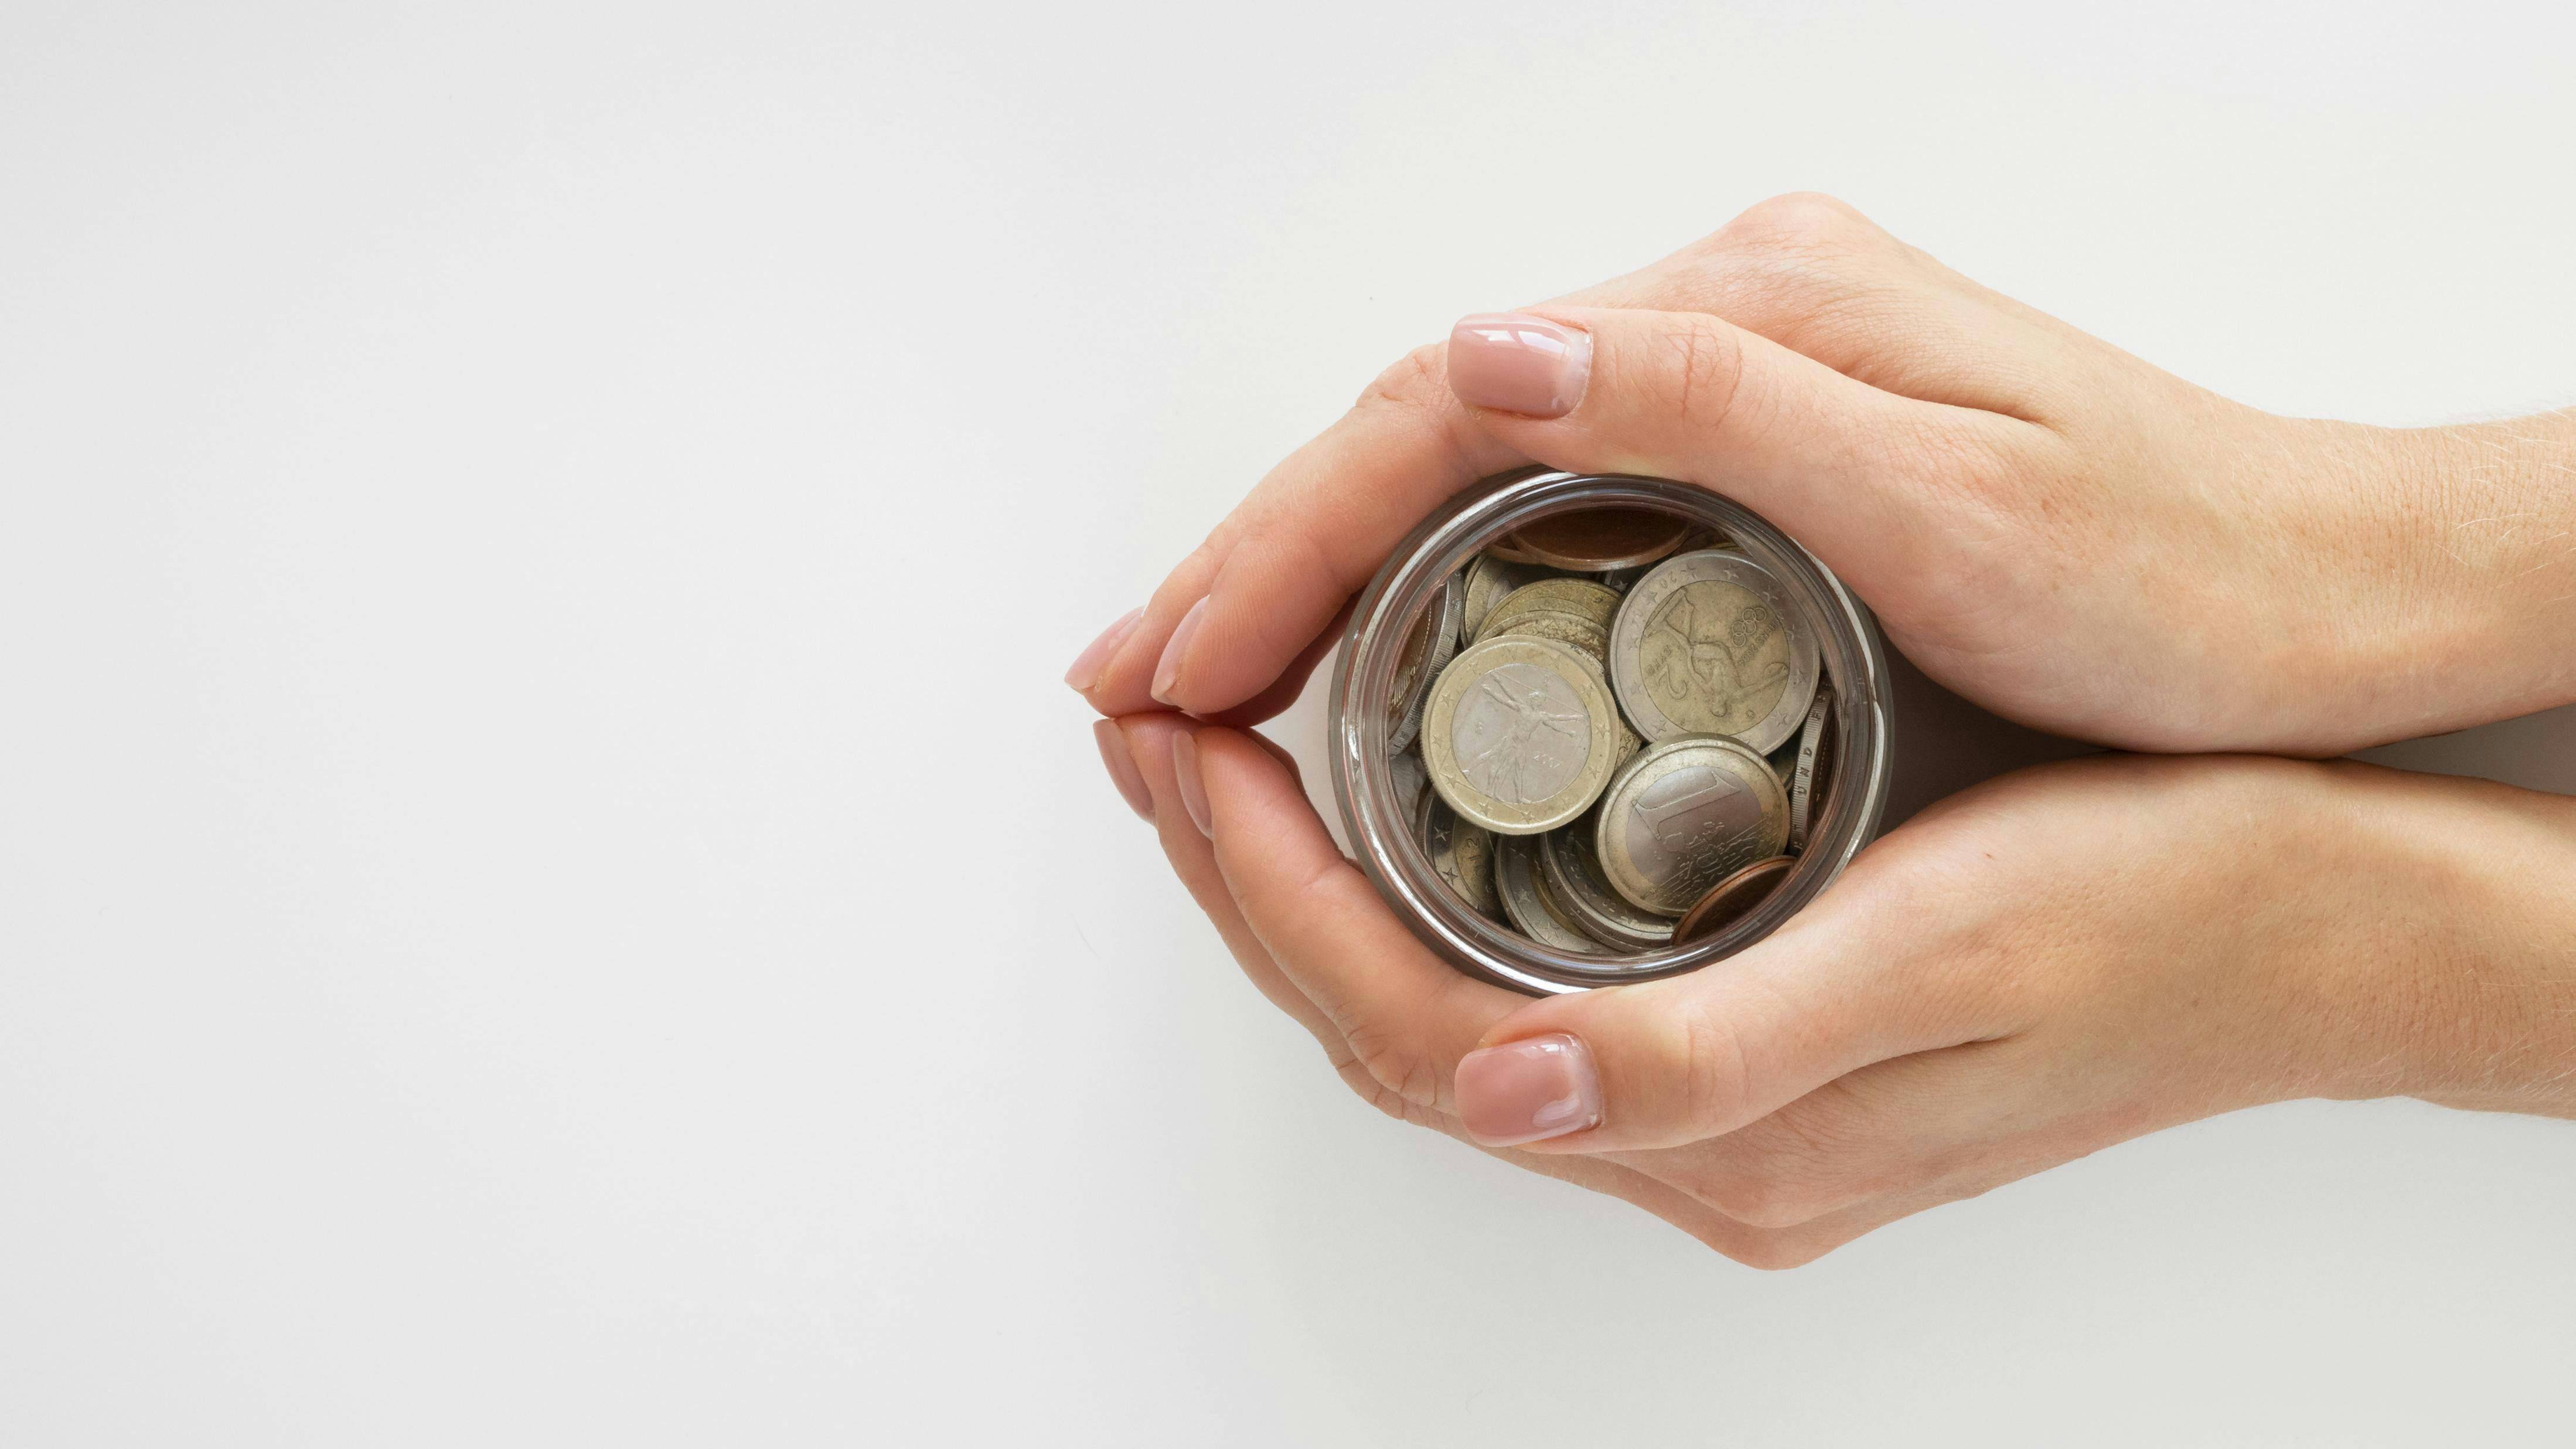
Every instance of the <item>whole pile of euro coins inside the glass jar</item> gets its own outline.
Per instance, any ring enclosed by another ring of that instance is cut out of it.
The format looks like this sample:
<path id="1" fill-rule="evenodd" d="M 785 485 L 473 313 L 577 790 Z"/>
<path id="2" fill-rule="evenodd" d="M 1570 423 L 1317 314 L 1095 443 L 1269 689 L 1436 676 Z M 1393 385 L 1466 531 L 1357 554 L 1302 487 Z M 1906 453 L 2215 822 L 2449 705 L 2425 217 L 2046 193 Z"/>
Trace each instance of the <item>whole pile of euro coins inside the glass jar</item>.
<path id="1" fill-rule="evenodd" d="M 1391 779 L 1468 910 L 1556 951 L 1641 954 L 1788 879 L 1832 709 L 1814 624 L 1739 547 L 1641 508 L 1558 513 L 1414 621 Z"/>

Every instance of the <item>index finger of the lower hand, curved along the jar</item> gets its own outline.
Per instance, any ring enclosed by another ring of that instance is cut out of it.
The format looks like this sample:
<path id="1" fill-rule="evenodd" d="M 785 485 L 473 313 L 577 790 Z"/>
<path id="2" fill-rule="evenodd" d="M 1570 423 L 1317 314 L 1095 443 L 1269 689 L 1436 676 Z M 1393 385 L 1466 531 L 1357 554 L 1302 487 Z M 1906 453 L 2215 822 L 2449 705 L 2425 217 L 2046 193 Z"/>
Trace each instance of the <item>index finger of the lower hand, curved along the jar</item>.
<path id="1" fill-rule="evenodd" d="M 1249 740 L 1203 727 L 1180 755 L 1182 779 L 1195 768 L 1200 781 L 1216 866 L 1280 972 L 1381 1093 L 1448 1114 L 1458 1057 L 1522 998 L 1450 969 L 1399 926 L 1296 779 Z"/>

